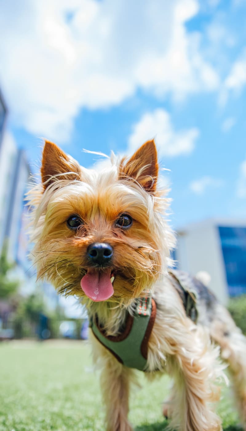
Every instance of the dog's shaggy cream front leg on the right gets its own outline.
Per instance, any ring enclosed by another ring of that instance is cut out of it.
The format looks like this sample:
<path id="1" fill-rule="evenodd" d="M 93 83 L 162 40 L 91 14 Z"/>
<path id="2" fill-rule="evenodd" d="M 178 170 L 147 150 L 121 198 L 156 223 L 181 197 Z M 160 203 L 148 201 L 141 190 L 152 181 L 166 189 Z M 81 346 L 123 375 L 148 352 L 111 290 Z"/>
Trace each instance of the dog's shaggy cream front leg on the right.
<path id="1" fill-rule="evenodd" d="M 219 388 L 213 386 L 221 373 L 220 367 L 216 367 L 218 349 L 211 346 L 209 335 L 202 328 L 194 332 L 184 329 L 180 328 L 179 336 L 176 332 L 176 345 L 171 346 L 175 356 L 169 357 L 169 371 L 174 377 L 171 427 L 182 431 L 219 431 L 221 420 L 209 406 L 220 394 Z"/>

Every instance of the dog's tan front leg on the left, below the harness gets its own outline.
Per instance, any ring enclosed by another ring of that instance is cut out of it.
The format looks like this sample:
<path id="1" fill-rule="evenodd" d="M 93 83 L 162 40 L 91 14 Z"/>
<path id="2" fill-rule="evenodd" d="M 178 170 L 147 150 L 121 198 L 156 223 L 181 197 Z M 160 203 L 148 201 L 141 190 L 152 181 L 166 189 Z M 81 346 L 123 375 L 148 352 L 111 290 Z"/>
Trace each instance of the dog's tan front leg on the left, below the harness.
<path id="1" fill-rule="evenodd" d="M 106 406 L 107 431 L 132 431 L 128 422 L 128 397 L 130 383 L 135 380 L 134 371 L 122 365 L 93 337 L 95 362 L 100 358 L 102 366 L 101 390 Z"/>

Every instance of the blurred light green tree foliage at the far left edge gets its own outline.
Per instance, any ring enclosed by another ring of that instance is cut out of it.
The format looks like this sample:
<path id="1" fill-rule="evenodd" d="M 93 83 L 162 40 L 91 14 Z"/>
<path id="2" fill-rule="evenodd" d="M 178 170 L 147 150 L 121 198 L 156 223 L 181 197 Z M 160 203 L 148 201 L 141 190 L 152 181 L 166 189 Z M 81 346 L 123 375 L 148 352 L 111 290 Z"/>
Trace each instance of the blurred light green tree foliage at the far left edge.
<path id="1" fill-rule="evenodd" d="M 18 280 L 9 280 L 9 272 L 14 268 L 15 263 L 10 263 L 7 259 L 7 245 L 3 246 L 0 255 L 0 299 L 8 299 L 19 287 Z"/>

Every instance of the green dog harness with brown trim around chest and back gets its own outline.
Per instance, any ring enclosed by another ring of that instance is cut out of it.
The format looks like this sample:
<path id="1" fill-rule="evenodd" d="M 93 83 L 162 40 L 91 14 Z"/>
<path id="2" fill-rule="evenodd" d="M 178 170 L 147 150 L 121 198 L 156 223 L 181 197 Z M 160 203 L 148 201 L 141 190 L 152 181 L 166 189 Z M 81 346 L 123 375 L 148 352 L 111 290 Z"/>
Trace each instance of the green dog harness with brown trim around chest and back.
<path id="1" fill-rule="evenodd" d="M 183 301 L 188 317 L 196 322 L 196 289 L 187 274 L 177 270 L 169 271 L 169 280 Z M 93 334 L 121 364 L 145 371 L 147 367 L 148 341 L 156 318 L 156 303 L 151 297 L 135 300 L 134 314 L 128 313 L 125 326 L 117 336 L 107 336 L 97 319 L 90 319 Z"/>

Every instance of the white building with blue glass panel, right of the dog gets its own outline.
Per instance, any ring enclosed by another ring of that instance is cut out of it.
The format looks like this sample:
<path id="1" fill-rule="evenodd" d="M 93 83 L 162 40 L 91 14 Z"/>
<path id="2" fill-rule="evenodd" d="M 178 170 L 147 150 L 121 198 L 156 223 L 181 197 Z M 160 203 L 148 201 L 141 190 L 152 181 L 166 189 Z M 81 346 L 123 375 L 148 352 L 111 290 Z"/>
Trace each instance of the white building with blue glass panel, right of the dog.
<path id="1" fill-rule="evenodd" d="M 177 232 L 178 269 L 211 276 L 210 289 L 226 304 L 246 294 L 246 220 L 209 219 Z"/>

